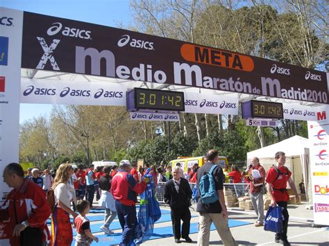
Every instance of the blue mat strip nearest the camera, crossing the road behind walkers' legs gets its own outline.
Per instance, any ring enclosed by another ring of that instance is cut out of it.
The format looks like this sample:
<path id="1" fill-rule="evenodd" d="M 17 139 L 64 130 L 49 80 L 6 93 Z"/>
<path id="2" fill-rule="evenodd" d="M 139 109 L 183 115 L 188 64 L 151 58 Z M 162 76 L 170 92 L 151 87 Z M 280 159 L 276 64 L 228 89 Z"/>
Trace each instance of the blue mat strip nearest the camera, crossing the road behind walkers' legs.
<path id="1" fill-rule="evenodd" d="M 241 220 L 228 220 L 228 227 L 240 227 L 243 225 L 252 224 L 251 222 L 244 222 Z M 215 230 L 214 224 L 211 225 L 210 231 Z M 195 234 L 199 231 L 198 223 L 192 223 L 189 229 L 189 234 Z M 158 227 L 155 228 L 153 234 L 149 240 L 158 239 L 158 238 L 169 238 L 174 236 L 172 234 L 172 227 Z M 122 234 L 111 234 L 111 235 L 103 235 L 97 236 L 99 238 L 99 243 L 93 242 L 92 245 L 100 246 L 100 245 L 118 245 L 121 242 Z M 75 241 L 73 240 L 71 246 L 74 246 Z M 145 242 L 144 242 L 145 243 Z M 174 243 L 174 239 L 173 239 Z"/>

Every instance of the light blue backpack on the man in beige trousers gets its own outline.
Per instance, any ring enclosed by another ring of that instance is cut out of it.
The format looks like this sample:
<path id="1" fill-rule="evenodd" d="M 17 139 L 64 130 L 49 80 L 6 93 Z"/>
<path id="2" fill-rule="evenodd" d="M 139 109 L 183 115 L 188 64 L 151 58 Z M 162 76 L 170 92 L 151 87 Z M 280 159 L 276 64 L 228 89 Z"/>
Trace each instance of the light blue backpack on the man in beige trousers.
<path id="1" fill-rule="evenodd" d="M 218 201 L 216 185 L 214 177 L 212 176 L 214 168 L 217 168 L 217 165 L 212 166 L 209 173 L 205 173 L 199 182 L 200 197 L 203 204 L 210 204 Z"/>

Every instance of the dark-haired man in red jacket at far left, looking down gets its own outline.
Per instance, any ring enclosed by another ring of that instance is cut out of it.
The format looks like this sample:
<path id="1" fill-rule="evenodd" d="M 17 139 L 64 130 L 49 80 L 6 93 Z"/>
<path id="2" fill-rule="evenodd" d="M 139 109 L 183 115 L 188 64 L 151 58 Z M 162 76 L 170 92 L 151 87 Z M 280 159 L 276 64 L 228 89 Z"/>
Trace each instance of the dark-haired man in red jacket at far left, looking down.
<path id="1" fill-rule="evenodd" d="M 0 207 L 1 214 L 10 215 L 0 216 L 0 228 L 6 227 L 10 245 L 44 245 L 49 240 L 46 220 L 51 214 L 46 193 L 31 179 L 24 178 L 24 170 L 17 163 L 6 166 L 3 180 L 13 188 Z"/>

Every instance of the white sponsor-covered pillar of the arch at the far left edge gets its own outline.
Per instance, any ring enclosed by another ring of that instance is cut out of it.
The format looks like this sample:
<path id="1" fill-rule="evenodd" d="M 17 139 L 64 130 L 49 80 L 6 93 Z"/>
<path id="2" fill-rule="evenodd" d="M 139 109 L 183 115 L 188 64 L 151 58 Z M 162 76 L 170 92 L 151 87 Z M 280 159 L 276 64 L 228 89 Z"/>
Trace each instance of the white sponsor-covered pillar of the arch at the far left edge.
<path id="1" fill-rule="evenodd" d="M 23 12 L 0 8 L 0 173 L 19 161 L 19 86 L 21 81 Z M 10 188 L 0 179 L 0 200 Z M 0 245 L 12 231 L 0 222 Z"/>

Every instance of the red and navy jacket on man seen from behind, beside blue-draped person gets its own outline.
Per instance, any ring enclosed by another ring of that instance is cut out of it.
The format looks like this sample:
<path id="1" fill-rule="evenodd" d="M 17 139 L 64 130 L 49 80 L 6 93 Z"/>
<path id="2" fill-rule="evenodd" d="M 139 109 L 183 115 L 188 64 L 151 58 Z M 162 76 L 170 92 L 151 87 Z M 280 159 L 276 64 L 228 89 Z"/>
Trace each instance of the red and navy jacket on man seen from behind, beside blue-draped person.
<path id="1" fill-rule="evenodd" d="M 137 193 L 140 194 L 146 189 L 144 181 L 137 183 L 130 173 L 119 171 L 112 178 L 111 193 L 116 200 L 124 205 L 135 206 Z"/>

